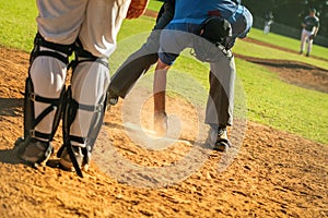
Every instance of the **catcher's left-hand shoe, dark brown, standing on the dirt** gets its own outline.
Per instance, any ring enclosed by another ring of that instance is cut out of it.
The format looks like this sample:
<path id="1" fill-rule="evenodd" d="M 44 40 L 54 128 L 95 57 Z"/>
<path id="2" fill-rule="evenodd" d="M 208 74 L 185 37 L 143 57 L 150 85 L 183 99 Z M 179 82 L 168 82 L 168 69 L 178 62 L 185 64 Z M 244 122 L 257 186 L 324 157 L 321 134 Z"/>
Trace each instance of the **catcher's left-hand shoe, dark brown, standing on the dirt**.
<path id="1" fill-rule="evenodd" d="M 36 138 L 23 140 L 20 137 L 15 142 L 15 149 L 17 150 L 17 157 L 33 167 L 45 165 L 54 153 L 50 142 L 43 142 Z"/>

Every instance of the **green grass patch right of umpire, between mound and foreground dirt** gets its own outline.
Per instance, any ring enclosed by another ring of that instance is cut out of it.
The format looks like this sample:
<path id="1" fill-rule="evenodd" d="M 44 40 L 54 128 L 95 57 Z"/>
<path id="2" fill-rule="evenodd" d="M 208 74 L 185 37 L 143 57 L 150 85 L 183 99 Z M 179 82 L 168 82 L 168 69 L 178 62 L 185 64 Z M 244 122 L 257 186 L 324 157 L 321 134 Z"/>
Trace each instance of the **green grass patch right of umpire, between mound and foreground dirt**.
<path id="1" fill-rule="evenodd" d="M 328 143 L 328 95 L 281 82 L 268 69 L 237 60 L 250 120 Z"/>

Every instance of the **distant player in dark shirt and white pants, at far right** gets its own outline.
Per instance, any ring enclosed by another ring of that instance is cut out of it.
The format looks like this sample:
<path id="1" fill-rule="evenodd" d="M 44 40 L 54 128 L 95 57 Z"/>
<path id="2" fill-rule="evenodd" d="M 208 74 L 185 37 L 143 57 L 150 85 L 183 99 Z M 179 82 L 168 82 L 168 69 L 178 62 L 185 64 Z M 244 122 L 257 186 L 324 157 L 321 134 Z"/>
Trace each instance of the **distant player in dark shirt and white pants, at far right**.
<path id="1" fill-rule="evenodd" d="M 307 43 L 306 56 L 309 57 L 313 39 L 317 36 L 319 31 L 319 19 L 316 16 L 315 9 L 309 10 L 309 15 L 304 19 L 302 27 L 300 53 L 303 53 L 305 44 Z"/>

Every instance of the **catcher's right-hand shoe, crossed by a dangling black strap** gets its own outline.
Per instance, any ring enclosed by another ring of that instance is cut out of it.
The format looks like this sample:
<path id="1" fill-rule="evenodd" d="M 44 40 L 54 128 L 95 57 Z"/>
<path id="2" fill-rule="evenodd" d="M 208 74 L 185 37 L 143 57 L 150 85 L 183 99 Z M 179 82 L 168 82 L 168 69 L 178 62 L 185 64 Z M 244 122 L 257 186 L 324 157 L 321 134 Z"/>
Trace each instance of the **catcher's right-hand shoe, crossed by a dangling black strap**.
<path id="1" fill-rule="evenodd" d="M 82 147 L 72 146 L 72 149 L 73 149 L 73 153 L 74 153 L 74 156 L 77 158 L 80 169 L 83 169 L 84 171 L 86 171 L 89 169 L 89 162 L 85 161 L 84 155 L 82 153 Z M 75 171 L 73 162 L 71 161 L 71 158 L 67 150 L 67 147 L 63 147 L 63 150 L 60 154 L 59 165 L 63 170 Z"/>

